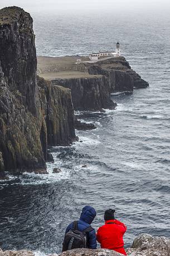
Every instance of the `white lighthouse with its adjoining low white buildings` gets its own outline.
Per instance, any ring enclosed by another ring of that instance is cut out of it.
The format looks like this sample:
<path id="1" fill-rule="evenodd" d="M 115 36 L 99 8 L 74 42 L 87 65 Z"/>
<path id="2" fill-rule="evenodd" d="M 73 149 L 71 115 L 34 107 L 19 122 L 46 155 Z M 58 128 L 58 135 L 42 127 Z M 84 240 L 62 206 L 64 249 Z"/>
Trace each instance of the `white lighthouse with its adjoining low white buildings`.
<path id="1" fill-rule="evenodd" d="M 120 44 L 119 42 L 116 43 L 116 51 L 113 50 L 100 50 L 99 52 L 89 54 L 90 60 L 98 60 L 99 58 L 116 58 L 120 56 Z"/>

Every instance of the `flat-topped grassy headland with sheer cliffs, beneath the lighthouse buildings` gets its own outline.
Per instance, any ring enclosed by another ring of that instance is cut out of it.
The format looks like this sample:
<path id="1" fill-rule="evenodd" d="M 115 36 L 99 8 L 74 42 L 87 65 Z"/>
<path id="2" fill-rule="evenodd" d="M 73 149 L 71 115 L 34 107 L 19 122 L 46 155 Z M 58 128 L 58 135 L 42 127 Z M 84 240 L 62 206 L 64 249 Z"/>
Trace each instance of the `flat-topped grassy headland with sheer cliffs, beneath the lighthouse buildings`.
<path id="1" fill-rule="evenodd" d="M 81 58 L 81 62 L 76 62 Z M 40 76 L 71 89 L 76 110 L 114 109 L 110 94 L 118 91 L 133 92 L 146 88 L 144 81 L 124 57 L 99 59 L 90 62 L 88 57 L 38 57 Z"/>

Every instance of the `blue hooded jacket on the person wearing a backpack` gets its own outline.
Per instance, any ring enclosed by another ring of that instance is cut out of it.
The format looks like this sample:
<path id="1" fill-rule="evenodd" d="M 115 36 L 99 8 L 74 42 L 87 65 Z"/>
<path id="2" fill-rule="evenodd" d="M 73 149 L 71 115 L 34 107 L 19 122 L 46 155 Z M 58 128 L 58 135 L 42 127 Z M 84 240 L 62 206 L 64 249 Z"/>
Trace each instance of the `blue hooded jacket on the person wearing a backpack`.
<path id="1" fill-rule="evenodd" d="M 96 211 L 91 206 L 85 206 L 82 208 L 82 212 L 80 215 L 80 220 L 78 221 L 77 227 L 79 231 L 85 230 L 87 227 L 90 226 L 91 222 L 94 220 L 96 216 Z M 70 229 L 73 229 L 73 222 L 67 226 L 66 232 L 69 232 Z M 96 232 L 95 230 L 92 230 L 88 233 L 88 248 L 90 249 L 96 249 L 97 243 L 96 243 Z"/>

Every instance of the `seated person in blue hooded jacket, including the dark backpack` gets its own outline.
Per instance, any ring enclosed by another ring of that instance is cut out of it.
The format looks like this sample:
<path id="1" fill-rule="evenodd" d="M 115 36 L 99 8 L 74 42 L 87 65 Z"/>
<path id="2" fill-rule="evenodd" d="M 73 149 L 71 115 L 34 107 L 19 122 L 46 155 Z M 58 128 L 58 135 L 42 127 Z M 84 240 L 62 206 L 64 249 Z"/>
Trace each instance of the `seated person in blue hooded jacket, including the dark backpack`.
<path id="1" fill-rule="evenodd" d="M 96 234 L 91 222 L 96 216 L 96 211 L 91 206 L 82 208 L 79 221 L 72 222 L 66 228 L 62 252 L 75 248 L 96 249 Z"/>

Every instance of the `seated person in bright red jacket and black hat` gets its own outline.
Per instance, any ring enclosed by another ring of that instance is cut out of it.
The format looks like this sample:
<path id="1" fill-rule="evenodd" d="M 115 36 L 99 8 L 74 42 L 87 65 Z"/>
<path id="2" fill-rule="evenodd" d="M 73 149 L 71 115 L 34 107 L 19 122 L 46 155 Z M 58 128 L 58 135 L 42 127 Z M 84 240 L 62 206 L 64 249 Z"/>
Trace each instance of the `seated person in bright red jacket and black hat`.
<path id="1" fill-rule="evenodd" d="M 96 237 L 101 248 L 115 250 L 127 255 L 124 250 L 123 235 L 127 227 L 120 221 L 115 220 L 115 210 L 106 210 L 104 213 L 105 225 L 99 227 Z"/>

